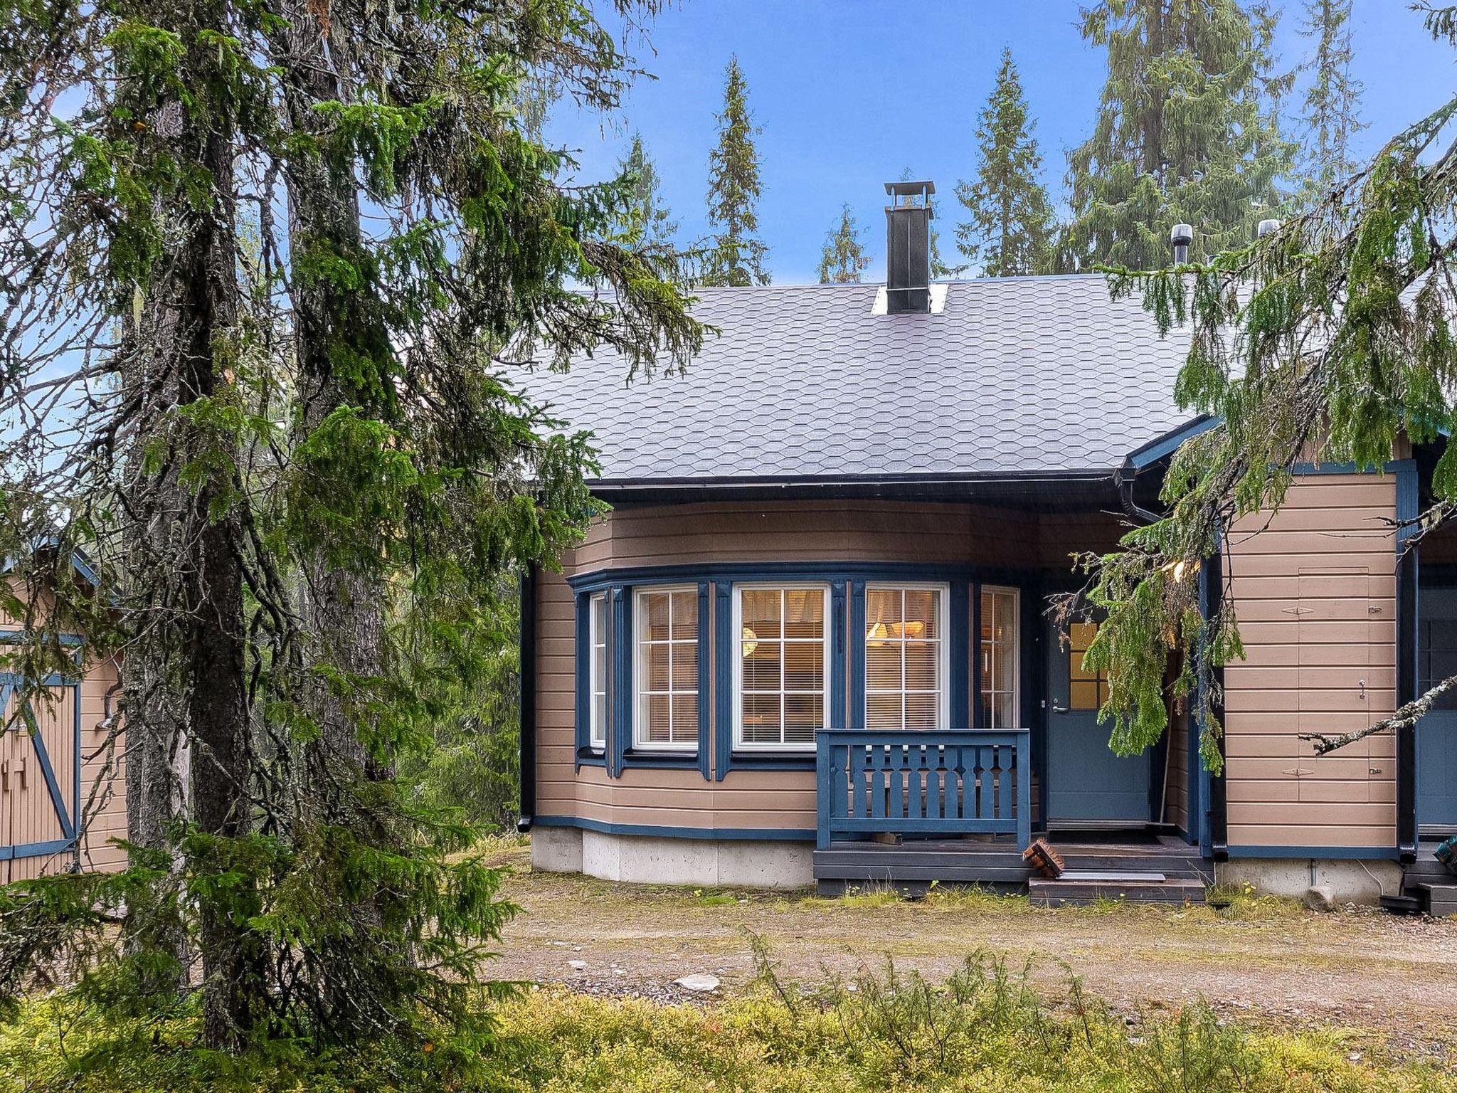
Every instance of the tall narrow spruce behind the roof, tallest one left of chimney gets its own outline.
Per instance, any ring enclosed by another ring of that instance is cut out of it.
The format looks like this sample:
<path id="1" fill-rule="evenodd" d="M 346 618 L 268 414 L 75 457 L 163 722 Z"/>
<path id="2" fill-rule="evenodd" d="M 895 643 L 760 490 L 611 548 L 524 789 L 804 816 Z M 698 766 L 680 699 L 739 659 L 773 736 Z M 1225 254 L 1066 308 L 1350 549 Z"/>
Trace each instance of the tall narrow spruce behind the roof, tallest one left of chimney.
<path id="1" fill-rule="evenodd" d="M 768 284 L 763 268 L 768 248 L 759 239 L 759 133 L 749 112 L 749 89 L 739 57 L 728 58 L 724 73 L 724 108 L 718 121 L 718 144 L 708 156 L 708 223 L 715 229 L 704 254 L 699 283 L 705 286 Z"/>

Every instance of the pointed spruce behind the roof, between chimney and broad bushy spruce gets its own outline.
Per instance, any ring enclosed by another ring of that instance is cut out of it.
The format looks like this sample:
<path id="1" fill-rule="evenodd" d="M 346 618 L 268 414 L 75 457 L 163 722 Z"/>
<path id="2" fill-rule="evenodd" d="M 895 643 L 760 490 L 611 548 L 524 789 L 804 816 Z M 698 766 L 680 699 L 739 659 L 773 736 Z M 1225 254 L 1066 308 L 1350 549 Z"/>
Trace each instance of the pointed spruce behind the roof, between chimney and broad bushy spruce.
<path id="1" fill-rule="evenodd" d="M 956 246 L 985 277 L 1045 273 L 1052 256 L 1052 203 L 1037 179 L 1042 156 L 1011 50 L 1002 50 L 978 122 L 976 181 L 956 187 L 970 214 L 956 229 Z"/>

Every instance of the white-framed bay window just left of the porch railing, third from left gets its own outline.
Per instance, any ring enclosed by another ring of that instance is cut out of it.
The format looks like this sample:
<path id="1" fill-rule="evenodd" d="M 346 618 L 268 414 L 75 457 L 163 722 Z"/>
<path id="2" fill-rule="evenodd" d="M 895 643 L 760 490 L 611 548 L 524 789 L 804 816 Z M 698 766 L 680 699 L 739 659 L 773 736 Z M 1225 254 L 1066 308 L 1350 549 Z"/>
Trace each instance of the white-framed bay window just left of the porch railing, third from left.
<path id="1" fill-rule="evenodd" d="M 809 751 L 829 705 L 829 589 L 734 586 L 734 746 Z"/>

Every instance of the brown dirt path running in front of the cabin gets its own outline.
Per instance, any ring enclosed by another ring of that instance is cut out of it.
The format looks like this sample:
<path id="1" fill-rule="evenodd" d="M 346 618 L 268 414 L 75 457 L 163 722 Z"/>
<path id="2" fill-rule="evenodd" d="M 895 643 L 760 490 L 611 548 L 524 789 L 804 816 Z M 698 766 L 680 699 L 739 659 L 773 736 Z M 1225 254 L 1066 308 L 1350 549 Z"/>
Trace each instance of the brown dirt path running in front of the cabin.
<path id="1" fill-rule="evenodd" d="M 711 972 L 734 990 L 752 975 L 752 931 L 790 979 L 854 975 L 887 956 L 944 975 L 985 949 L 1016 965 L 1032 959 L 1049 987 L 1072 972 L 1128 1010 L 1206 998 L 1281 1025 L 1380 1029 L 1423 1049 L 1457 1027 L 1457 920 L 1317 914 L 1271 899 L 1222 912 L 1042 909 L 953 893 L 927 904 L 820 901 L 530 873 L 525 848 L 501 860 L 516 870 L 506 895 L 523 908 L 497 963 L 506 978 L 663 998 L 675 997 L 675 978 Z"/>

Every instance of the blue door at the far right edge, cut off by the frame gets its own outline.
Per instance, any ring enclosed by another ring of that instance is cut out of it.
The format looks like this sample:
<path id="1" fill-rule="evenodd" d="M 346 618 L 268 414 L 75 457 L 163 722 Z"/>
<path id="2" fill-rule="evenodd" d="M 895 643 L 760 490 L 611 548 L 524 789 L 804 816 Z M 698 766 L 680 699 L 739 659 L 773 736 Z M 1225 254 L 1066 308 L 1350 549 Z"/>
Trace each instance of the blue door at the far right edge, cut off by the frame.
<path id="1" fill-rule="evenodd" d="M 1457 589 L 1422 589 L 1418 688 L 1457 675 Z M 1429 835 L 1457 831 L 1457 694 L 1448 691 L 1416 726 L 1416 822 Z"/>

